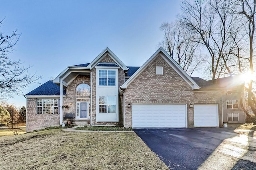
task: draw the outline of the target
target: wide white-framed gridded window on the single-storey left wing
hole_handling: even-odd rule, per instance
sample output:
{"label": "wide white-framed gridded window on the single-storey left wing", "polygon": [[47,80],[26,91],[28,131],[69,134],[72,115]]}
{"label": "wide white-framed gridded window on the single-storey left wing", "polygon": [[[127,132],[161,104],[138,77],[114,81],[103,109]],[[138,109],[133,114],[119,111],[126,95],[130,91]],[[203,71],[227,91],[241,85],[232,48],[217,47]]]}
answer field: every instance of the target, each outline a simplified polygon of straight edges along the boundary
{"label": "wide white-framed gridded window on the single-storey left wing", "polygon": [[58,114],[58,99],[37,99],[36,106],[37,114]]}

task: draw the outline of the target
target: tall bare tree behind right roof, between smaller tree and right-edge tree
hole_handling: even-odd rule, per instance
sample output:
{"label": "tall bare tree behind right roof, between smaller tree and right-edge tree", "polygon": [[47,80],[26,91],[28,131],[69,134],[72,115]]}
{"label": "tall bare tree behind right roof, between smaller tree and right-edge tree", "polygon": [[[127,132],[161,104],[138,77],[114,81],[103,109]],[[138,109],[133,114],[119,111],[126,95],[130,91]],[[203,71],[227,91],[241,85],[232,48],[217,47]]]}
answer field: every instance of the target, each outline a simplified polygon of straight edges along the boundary
{"label": "tall bare tree behind right roof, between smaller tree and right-edge tree", "polygon": [[[229,74],[238,67],[232,51],[233,38],[239,32],[231,1],[226,0],[184,0],[180,22],[196,34],[195,41],[207,51],[212,80]],[[235,34],[235,35],[233,35]],[[232,69],[230,69],[232,68]],[[208,69],[209,70],[209,69]]]}

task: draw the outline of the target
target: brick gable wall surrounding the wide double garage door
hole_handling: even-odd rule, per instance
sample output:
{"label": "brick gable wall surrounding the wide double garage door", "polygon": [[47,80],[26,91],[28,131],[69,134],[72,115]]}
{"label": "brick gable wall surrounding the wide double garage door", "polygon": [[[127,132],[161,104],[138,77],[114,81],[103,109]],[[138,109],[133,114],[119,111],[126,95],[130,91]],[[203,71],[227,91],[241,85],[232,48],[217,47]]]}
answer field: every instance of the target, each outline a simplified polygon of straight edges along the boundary
{"label": "brick gable wall surrounding the wide double garage door", "polygon": [[[156,66],[163,66],[163,75],[156,75]],[[194,127],[192,88],[158,55],[125,90],[125,127],[132,127],[132,107],[128,103],[187,104],[188,127]]]}

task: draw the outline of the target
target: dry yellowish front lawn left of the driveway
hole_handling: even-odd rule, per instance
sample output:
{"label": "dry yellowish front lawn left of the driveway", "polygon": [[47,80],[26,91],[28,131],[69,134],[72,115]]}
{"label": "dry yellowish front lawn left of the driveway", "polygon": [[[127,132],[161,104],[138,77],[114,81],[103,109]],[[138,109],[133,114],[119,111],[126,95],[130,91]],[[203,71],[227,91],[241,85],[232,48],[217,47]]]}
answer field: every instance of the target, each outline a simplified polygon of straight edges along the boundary
{"label": "dry yellowish front lawn left of the driveway", "polygon": [[1,169],[168,170],[136,133],[52,129],[0,137]]}

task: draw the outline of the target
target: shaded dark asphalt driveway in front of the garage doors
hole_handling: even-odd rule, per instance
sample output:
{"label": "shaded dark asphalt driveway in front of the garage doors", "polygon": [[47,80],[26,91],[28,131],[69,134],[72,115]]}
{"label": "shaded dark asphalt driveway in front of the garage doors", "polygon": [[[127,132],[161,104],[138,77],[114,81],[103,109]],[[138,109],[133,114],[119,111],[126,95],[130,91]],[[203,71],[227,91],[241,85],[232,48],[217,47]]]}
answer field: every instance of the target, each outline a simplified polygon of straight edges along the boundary
{"label": "shaded dark asphalt driveway in front of the garage doors", "polygon": [[[201,169],[232,169],[232,167],[236,169],[234,162],[237,160],[226,154],[226,150],[220,145],[225,139],[239,136],[234,132],[235,129],[236,126],[228,128],[134,129],[134,131],[170,169],[196,170],[204,162],[207,164],[204,164]],[[224,151],[215,152],[219,145]],[[215,156],[210,156],[212,154]],[[221,162],[221,164],[217,165],[217,162]],[[255,168],[255,164],[252,164],[252,167]],[[249,167],[247,166],[247,168]]]}

